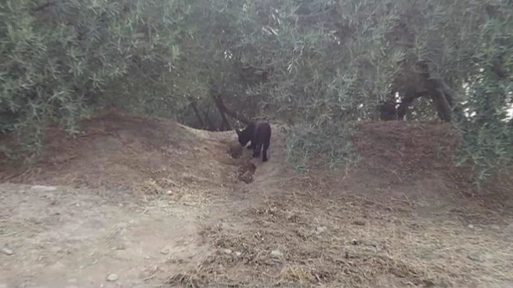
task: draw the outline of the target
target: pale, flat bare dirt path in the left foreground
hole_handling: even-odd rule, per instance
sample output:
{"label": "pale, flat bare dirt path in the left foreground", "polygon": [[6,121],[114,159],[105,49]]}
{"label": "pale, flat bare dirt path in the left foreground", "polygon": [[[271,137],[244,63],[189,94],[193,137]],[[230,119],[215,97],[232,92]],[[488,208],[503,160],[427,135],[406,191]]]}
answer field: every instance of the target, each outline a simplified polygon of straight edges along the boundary
{"label": "pale, flat bare dirt path in the left foreground", "polygon": [[[0,185],[0,283],[160,284],[208,255],[198,234],[200,209],[164,200],[141,205],[127,196],[96,193]],[[106,281],[111,273],[119,277],[115,283]]]}

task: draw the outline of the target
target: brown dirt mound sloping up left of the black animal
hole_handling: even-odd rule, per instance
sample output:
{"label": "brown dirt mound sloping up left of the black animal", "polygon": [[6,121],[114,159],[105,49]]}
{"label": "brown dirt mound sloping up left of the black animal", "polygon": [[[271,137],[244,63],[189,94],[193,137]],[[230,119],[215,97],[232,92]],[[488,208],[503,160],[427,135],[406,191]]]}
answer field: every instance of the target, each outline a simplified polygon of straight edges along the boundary
{"label": "brown dirt mound sloping up left of the black animal", "polygon": [[0,179],[107,189],[221,181],[216,156],[225,145],[203,131],[115,112],[85,121],[83,130],[72,139],[49,129],[42,159],[29,169],[4,165]]}

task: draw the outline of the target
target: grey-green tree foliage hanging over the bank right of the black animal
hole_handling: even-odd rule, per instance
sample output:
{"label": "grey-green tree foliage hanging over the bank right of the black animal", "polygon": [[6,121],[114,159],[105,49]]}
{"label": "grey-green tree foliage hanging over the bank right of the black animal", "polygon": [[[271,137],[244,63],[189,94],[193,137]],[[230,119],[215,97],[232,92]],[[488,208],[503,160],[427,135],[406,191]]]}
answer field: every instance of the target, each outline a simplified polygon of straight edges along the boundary
{"label": "grey-green tree foliage hanging over the bank right of the black animal", "polygon": [[[455,92],[455,118],[465,122],[461,155],[478,178],[512,163],[503,112],[513,105],[510,3],[319,0],[255,6],[271,12],[254,20],[260,25],[253,25],[244,58],[273,70],[272,79],[253,91],[268,95],[264,101],[274,113],[307,127],[289,135],[295,166],[303,166],[312,151],[333,151],[336,146],[320,137],[330,135],[329,126],[377,119],[376,106],[393,92],[391,86],[406,94],[423,89],[416,78],[421,61]],[[437,118],[429,98],[414,105],[407,119]]]}

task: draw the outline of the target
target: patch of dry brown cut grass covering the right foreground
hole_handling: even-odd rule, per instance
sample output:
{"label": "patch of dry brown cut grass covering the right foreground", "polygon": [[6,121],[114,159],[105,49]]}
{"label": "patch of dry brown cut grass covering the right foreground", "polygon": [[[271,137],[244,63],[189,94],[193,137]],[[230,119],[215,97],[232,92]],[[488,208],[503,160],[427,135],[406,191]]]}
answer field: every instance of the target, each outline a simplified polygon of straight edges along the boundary
{"label": "patch of dry brown cut grass covering the right foreground", "polygon": [[[240,256],[221,253],[196,273],[216,267],[244,286],[255,285],[254,278],[273,286],[427,287],[513,279],[507,233],[469,228],[450,214],[424,218],[406,202],[299,190],[245,216],[253,222],[242,232],[207,229],[221,251]],[[272,250],[283,258],[270,257]]]}

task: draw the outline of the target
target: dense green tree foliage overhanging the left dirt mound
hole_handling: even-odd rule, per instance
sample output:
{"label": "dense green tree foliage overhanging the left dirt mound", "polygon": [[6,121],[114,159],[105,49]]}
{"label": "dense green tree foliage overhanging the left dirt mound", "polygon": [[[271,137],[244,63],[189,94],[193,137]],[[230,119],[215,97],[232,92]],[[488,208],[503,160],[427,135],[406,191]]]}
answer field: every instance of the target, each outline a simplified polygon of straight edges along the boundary
{"label": "dense green tree foliage overhanging the left dirt mound", "polygon": [[[23,145],[38,151],[50,122],[76,133],[78,121],[106,102],[130,106],[133,92],[148,96],[144,104],[162,98],[176,71],[148,73],[179,60],[175,38],[183,31],[169,27],[180,21],[183,4],[45,3],[0,4],[0,130],[19,132]],[[109,89],[113,99],[105,99]]]}

